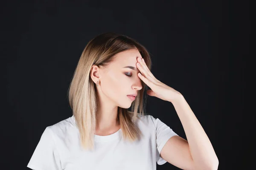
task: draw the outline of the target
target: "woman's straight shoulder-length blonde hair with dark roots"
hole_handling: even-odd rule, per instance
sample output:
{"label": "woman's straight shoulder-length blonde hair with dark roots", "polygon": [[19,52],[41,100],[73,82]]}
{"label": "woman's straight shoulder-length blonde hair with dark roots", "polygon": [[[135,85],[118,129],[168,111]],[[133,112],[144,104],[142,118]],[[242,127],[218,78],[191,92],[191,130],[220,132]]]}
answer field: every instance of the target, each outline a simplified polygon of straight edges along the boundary
{"label": "woman's straight shoulder-length blonde hair with dark roots", "polygon": [[[79,129],[81,146],[84,149],[93,149],[94,130],[96,127],[97,96],[96,86],[90,77],[92,65],[106,66],[113,60],[113,56],[128,49],[137,49],[151,70],[151,58],[147,49],[136,40],[122,34],[103,33],[90,40],[84,48],[73,79],[68,89],[68,99],[76,125]],[[141,131],[135,120],[145,115],[146,96],[143,92],[147,86],[143,81],[142,89],[131,105],[131,111],[118,107],[117,120],[120,122],[123,139],[133,142],[139,139]],[[146,89],[147,90],[147,89]],[[139,113],[138,113],[139,110]]]}

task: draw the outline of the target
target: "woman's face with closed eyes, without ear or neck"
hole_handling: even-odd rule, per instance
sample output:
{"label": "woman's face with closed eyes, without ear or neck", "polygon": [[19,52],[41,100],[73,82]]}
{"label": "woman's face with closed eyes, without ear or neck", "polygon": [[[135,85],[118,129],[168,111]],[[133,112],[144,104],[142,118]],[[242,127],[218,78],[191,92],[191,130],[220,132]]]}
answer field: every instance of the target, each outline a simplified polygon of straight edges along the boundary
{"label": "woman's face with closed eyes, without ear or neck", "polygon": [[133,100],[127,95],[138,94],[142,89],[142,80],[138,77],[140,71],[136,67],[137,57],[141,57],[137,49],[122,51],[106,68],[100,67],[99,93],[103,101],[121,108],[131,107]]}

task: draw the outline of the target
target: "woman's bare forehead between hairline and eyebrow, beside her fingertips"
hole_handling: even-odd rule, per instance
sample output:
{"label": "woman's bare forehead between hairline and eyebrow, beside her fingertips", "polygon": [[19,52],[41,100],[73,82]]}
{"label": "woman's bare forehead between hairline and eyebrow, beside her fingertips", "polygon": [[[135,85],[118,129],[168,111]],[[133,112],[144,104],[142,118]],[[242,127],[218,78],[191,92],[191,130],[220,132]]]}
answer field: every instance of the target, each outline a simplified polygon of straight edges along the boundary
{"label": "woman's bare forehead between hairline and eyebrow, beside her fingertips", "polygon": [[136,66],[137,57],[141,57],[140,52],[137,49],[129,49],[122,51],[115,55],[113,64],[118,64],[120,66]]}

